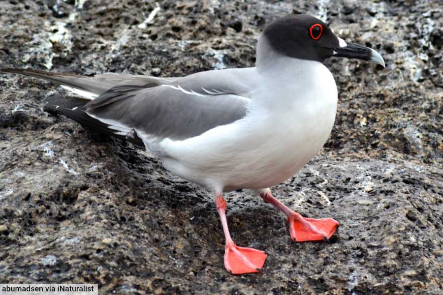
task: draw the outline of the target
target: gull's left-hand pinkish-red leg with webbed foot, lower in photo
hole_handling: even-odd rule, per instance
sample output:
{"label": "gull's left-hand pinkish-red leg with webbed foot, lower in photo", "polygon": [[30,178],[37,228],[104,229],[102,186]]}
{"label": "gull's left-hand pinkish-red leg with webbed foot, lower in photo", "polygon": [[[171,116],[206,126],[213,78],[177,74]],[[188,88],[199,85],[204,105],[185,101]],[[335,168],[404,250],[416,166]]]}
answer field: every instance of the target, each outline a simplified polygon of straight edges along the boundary
{"label": "gull's left-hand pinkish-red leg with webbed foot, lower in photo", "polygon": [[264,251],[238,247],[234,244],[231,235],[229,235],[226,221],[226,201],[221,194],[217,195],[217,211],[226,240],[224,247],[224,267],[226,270],[234,274],[259,272],[268,255]]}

